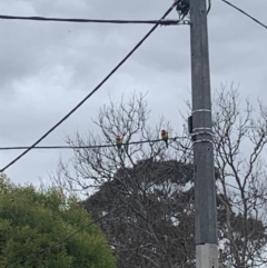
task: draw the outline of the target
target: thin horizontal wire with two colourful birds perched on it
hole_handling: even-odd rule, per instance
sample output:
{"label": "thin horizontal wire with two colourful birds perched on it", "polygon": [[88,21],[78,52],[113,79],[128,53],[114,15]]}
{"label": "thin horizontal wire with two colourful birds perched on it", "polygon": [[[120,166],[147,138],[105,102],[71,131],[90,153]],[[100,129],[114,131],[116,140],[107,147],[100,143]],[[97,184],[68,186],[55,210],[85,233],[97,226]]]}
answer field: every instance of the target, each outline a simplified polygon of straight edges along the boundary
{"label": "thin horizontal wire with two colourful birds perched on it", "polygon": [[[187,137],[175,137],[169,138],[169,140],[176,141],[177,139],[186,139]],[[122,143],[122,146],[129,146],[129,145],[141,145],[141,143],[155,143],[160,142],[162,139],[156,139],[156,140],[140,140],[140,141],[131,141]],[[32,149],[97,149],[97,148],[111,148],[116,147],[116,145],[96,145],[96,146],[36,146]],[[28,146],[17,146],[17,147],[0,147],[0,150],[26,150],[31,147]]]}

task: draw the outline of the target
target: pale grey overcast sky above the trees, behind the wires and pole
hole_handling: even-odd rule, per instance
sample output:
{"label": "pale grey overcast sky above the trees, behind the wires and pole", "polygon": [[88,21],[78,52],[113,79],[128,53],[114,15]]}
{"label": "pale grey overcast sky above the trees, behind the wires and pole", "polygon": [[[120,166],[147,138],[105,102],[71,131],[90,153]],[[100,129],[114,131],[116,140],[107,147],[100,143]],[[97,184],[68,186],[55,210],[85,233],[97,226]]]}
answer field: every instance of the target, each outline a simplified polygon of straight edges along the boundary
{"label": "pale grey overcast sky above the trees, behind the wires and pole", "polygon": [[[211,88],[235,81],[255,100],[267,98],[267,31],[220,0],[208,17]],[[267,23],[266,0],[231,1]],[[0,0],[1,14],[88,19],[159,19],[172,0]],[[177,13],[168,17],[176,19]],[[72,109],[151,26],[0,20],[0,147],[29,146]],[[159,27],[118,72],[41,145],[92,127],[108,102],[148,91],[152,119],[174,120],[190,100],[189,27]],[[0,151],[6,166],[20,151]],[[70,151],[32,150],[6,172],[16,182],[38,183]]]}

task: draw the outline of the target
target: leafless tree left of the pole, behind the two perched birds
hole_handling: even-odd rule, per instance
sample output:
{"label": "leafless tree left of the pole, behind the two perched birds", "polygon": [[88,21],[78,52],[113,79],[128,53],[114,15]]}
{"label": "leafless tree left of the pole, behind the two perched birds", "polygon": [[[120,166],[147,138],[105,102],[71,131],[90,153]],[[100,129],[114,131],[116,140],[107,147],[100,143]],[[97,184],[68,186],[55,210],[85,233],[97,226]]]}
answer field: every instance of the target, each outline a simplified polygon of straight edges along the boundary
{"label": "leafless tree left of the pole, behind the two perched birds", "polygon": [[[177,135],[168,122],[160,119],[151,128],[148,119],[142,95],[103,106],[93,120],[99,131],[68,138],[71,146],[96,147],[75,150],[73,173],[61,162],[57,183],[65,190],[88,195],[85,205],[95,218],[108,214],[100,225],[119,267],[191,267],[190,140],[186,133],[186,139],[171,139]],[[155,141],[161,129],[169,132],[168,149],[164,141]],[[118,135],[125,143],[121,155],[115,145]],[[149,142],[127,146],[132,141]]]}

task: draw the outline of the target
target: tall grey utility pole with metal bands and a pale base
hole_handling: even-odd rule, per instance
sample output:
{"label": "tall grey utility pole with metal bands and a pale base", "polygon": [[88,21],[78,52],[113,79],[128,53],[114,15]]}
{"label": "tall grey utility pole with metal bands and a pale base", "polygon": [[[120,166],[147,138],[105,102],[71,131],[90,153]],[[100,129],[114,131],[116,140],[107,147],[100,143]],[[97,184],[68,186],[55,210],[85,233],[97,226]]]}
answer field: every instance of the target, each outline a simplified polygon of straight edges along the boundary
{"label": "tall grey utility pole with metal bands and a pale base", "polygon": [[206,0],[190,0],[197,268],[218,268],[217,207]]}

